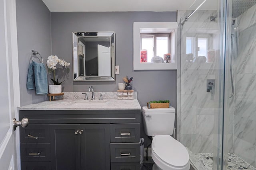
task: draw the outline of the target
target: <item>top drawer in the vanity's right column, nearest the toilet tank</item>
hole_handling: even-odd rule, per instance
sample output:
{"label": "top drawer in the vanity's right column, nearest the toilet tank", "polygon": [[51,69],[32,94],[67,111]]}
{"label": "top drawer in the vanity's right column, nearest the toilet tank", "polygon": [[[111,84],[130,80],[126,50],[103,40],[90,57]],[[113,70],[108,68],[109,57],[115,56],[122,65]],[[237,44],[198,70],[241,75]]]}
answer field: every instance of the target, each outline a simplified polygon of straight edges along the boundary
{"label": "top drawer in the vanity's right column, nearest the toilet tank", "polygon": [[110,124],[110,142],[140,142],[140,123]]}

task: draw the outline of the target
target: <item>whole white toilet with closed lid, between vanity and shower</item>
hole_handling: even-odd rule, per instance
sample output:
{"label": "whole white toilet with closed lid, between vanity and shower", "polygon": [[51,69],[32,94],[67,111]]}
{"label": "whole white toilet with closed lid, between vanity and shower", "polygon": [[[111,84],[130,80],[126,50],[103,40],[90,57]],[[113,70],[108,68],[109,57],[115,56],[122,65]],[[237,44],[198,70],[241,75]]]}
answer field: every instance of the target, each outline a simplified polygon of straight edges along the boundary
{"label": "whole white toilet with closed lid, between vanity and shower", "polygon": [[146,135],[152,136],[151,156],[155,164],[153,170],[189,170],[189,155],[186,148],[172,135],[175,109],[148,109],[142,107]]}

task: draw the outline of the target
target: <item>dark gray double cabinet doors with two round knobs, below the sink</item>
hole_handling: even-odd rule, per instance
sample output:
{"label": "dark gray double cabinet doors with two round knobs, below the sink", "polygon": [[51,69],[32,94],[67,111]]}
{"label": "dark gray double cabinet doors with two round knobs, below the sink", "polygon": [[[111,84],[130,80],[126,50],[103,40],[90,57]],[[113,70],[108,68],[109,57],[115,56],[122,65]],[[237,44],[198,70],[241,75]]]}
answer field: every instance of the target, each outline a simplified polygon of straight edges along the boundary
{"label": "dark gray double cabinet doors with two round knobs, below the sink", "polygon": [[52,170],[110,170],[109,124],[50,125]]}

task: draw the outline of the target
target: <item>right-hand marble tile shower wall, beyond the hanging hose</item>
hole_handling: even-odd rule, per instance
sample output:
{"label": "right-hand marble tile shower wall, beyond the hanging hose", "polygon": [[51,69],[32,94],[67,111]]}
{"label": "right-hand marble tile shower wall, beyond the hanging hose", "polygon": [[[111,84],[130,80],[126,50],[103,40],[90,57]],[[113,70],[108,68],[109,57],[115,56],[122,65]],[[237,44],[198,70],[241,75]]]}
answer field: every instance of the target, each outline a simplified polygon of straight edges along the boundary
{"label": "right-hand marble tile shower wall, beyond the hanging hose", "polygon": [[234,153],[256,166],[256,5],[238,17]]}

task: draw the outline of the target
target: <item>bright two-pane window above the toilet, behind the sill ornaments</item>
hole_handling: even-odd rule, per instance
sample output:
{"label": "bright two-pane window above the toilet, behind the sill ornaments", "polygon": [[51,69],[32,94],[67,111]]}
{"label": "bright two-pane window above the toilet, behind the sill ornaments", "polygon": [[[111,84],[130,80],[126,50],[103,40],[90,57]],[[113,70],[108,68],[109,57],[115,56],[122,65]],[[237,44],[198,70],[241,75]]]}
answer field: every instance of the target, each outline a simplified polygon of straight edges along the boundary
{"label": "bright two-pane window above the toilet, behind the sill ornaments", "polygon": [[140,34],[141,50],[147,50],[147,62],[151,63],[152,57],[170,53],[170,34]]}

